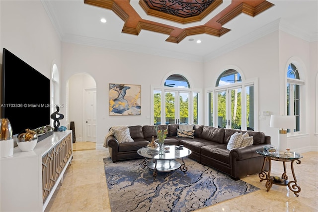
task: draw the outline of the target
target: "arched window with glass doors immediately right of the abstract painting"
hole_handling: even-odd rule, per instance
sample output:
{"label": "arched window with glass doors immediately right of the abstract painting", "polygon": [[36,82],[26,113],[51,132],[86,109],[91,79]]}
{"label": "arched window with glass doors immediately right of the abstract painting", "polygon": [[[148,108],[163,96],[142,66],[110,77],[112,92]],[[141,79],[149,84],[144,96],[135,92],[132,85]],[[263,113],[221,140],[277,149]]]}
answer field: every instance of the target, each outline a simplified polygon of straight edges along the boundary
{"label": "arched window with glass doors immediately right of the abstract painting", "polygon": [[200,91],[190,89],[184,76],[169,75],[153,92],[154,124],[198,123]]}

